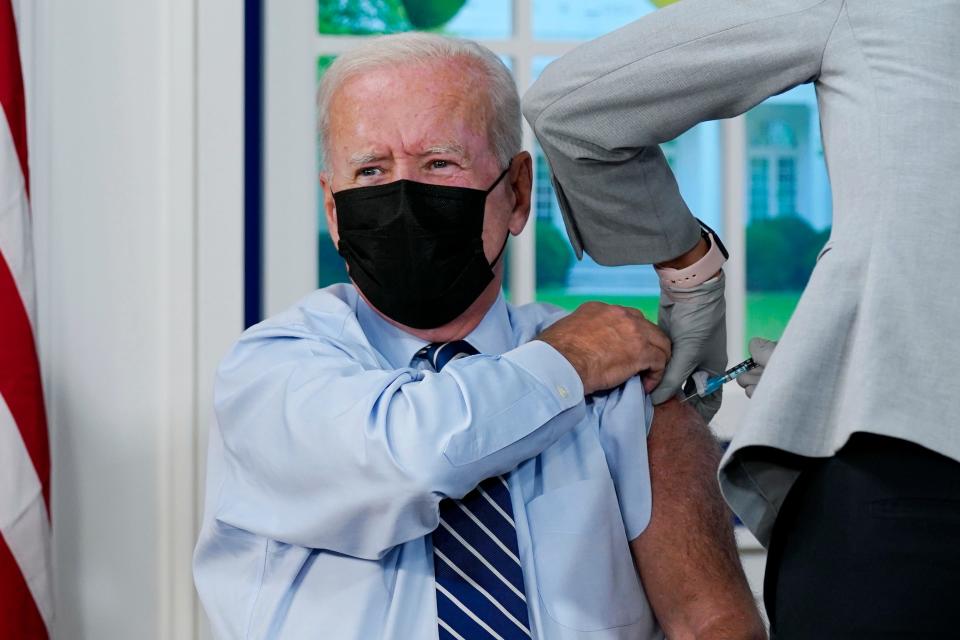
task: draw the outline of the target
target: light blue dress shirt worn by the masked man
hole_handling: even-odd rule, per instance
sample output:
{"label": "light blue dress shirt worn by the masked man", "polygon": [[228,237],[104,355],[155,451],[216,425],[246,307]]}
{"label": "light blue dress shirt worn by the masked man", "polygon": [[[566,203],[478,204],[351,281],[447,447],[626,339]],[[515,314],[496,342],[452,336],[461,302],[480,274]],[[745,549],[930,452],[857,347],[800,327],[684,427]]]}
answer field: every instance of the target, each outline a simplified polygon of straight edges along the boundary
{"label": "light blue dress shirt worn by the masked man", "polygon": [[[584,398],[503,297],[442,373],[350,285],[249,329],[218,371],[194,578],[218,638],[433,640],[438,505],[508,474],[534,638],[660,638],[638,379]],[[426,367],[426,368],[425,368]],[[471,640],[471,639],[467,639]]]}

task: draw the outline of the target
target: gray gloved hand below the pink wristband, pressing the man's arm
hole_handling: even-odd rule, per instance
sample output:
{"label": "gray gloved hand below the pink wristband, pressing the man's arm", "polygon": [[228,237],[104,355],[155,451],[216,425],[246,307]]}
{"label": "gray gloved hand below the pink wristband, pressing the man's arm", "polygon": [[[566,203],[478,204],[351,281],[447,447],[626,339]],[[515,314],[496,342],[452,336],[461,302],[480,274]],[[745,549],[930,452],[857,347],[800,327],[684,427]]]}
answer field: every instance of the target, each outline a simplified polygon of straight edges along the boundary
{"label": "gray gloved hand below the pink wristband, pressing the man's arm", "polygon": [[[727,367],[727,303],[723,295],[723,272],[690,289],[664,288],[660,292],[657,324],[670,336],[673,354],[660,386],[650,394],[654,404],[677,395],[694,371],[711,376]],[[723,391],[689,401],[707,422],[720,409]]]}

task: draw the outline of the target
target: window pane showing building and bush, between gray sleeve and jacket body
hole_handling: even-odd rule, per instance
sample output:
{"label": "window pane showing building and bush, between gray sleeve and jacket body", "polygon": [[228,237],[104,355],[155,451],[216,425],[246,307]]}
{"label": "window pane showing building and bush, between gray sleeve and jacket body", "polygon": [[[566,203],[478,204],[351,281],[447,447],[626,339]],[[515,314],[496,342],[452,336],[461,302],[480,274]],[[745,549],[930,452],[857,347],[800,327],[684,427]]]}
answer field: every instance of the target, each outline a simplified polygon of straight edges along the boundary
{"label": "window pane showing building and bush, between gray sleeve and jacket body", "polygon": [[746,118],[746,338],[776,340],[830,235],[830,186],[811,85],[768,99]]}

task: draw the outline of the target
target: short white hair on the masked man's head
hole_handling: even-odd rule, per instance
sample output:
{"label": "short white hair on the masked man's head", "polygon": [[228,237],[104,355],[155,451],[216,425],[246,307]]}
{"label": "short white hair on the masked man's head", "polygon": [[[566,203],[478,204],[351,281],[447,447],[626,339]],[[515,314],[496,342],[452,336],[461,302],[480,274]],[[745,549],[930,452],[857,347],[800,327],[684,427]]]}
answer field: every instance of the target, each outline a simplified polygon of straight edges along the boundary
{"label": "short white hair on the masked man's head", "polygon": [[345,82],[384,67],[458,59],[472,64],[486,77],[492,112],[487,137],[498,162],[506,166],[523,144],[520,96],[510,71],[495,53],[472,40],[419,32],[371,38],[337,56],[326,70],[317,92],[317,124],[324,155],[329,156],[330,105]]}

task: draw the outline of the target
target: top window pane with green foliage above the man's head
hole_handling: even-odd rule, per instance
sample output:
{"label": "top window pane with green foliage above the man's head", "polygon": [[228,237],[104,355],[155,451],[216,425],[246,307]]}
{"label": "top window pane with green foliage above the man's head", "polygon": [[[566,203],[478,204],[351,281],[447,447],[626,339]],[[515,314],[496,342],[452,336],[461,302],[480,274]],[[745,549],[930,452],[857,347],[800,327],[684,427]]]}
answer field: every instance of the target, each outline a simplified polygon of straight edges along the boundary
{"label": "top window pane with green foliage above the man's head", "polygon": [[323,34],[375,35],[439,31],[470,38],[507,38],[510,0],[317,0]]}

